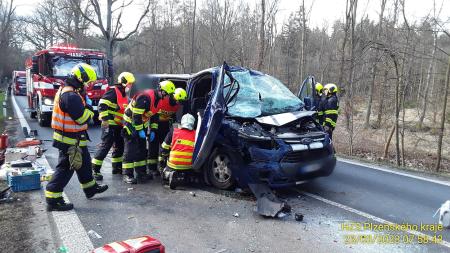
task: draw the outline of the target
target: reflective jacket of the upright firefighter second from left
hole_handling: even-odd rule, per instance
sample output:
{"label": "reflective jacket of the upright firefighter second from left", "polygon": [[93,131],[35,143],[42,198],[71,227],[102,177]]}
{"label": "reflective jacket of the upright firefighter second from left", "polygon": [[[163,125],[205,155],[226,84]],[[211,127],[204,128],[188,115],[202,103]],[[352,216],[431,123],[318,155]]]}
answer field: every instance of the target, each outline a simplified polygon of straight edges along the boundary
{"label": "reflective jacket of the upright firefighter second from left", "polygon": [[123,114],[128,105],[125,89],[116,85],[108,89],[98,103],[99,117],[110,126],[123,126]]}

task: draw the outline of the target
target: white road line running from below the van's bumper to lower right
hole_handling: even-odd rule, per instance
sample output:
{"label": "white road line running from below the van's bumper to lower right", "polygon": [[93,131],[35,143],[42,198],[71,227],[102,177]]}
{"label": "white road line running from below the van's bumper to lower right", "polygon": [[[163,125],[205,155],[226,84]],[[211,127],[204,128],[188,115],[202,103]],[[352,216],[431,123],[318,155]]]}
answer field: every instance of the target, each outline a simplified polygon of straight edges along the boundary
{"label": "white road line running from below the van's bumper to lower right", "polygon": [[[346,205],[343,205],[343,204],[334,202],[334,201],[332,201],[332,200],[322,198],[322,197],[320,197],[320,196],[318,196],[318,195],[316,195],[316,194],[309,193],[309,192],[304,192],[304,191],[298,191],[298,192],[299,192],[300,194],[303,194],[303,195],[306,195],[306,196],[311,197],[311,198],[313,198],[313,199],[322,201],[322,202],[327,203],[327,204],[329,204],[329,205],[332,205],[332,206],[335,206],[335,207],[344,209],[345,211],[348,211],[348,212],[357,214],[357,215],[362,216],[362,217],[364,217],[364,218],[366,218],[366,219],[370,219],[370,220],[373,220],[373,221],[378,222],[378,223],[381,223],[381,224],[388,224],[388,225],[393,225],[393,226],[397,225],[397,224],[394,223],[394,222],[391,222],[391,221],[388,221],[388,220],[385,220],[385,219],[382,219],[382,218],[373,216],[373,215],[368,214],[368,213],[363,212],[363,211],[356,210],[356,209],[354,209],[354,208],[351,208],[351,207],[349,207],[349,206],[346,206]],[[422,232],[419,232],[419,231],[416,231],[416,230],[404,230],[404,231],[407,232],[407,233],[409,233],[409,234],[415,235],[415,236],[417,236],[417,237],[420,236],[420,237],[422,237],[422,238],[427,238],[428,240],[432,241],[432,237],[431,237],[431,236],[429,236],[429,235],[427,235],[427,234],[424,234],[424,233],[422,233]],[[442,246],[445,246],[445,247],[447,247],[447,248],[450,248],[450,242],[447,242],[447,241],[442,240],[441,242],[437,242],[437,243],[438,243],[438,244],[441,244]]]}

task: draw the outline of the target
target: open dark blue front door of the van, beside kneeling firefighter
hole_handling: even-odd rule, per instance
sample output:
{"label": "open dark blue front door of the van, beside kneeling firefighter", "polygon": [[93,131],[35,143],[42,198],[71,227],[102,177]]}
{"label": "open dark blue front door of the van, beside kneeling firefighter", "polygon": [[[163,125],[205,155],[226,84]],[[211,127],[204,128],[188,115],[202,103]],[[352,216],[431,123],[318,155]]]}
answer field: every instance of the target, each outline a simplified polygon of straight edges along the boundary
{"label": "open dark blue front door of the van, beside kneeling firefighter", "polygon": [[228,71],[228,65],[224,63],[215,78],[216,85],[211,91],[211,97],[206,105],[205,112],[197,128],[197,139],[193,154],[193,169],[200,170],[207,160],[214,140],[222,125],[222,120],[226,112],[225,99],[223,96],[225,71]]}

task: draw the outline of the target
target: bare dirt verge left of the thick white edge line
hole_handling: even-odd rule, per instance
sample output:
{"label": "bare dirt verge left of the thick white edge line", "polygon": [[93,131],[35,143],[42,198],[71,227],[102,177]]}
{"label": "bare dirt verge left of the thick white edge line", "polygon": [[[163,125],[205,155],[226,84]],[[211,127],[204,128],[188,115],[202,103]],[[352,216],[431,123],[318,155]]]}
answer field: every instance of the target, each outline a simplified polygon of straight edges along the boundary
{"label": "bare dirt verge left of the thick white edge line", "polygon": [[[0,122],[8,134],[9,147],[22,139],[22,128],[8,101],[7,117]],[[12,117],[9,119],[9,117]],[[2,130],[3,130],[2,129]],[[23,154],[6,155],[6,162],[20,159]],[[0,190],[8,187],[0,180]],[[0,252],[54,252],[48,215],[39,191],[13,192],[11,201],[0,203]]]}

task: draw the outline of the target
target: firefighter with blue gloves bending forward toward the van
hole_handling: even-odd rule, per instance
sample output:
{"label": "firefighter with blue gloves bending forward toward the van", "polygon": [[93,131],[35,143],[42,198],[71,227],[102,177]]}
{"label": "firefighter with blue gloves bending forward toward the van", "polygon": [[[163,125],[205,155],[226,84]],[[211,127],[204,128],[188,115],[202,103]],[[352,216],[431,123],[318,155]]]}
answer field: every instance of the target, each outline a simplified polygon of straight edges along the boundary
{"label": "firefighter with blue gloves bending forward toward the van", "polygon": [[[125,142],[122,173],[123,181],[128,184],[144,183],[153,178],[147,174],[147,129],[150,119],[157,112],[161,99],[174,93],[175,85],[171,81],[162,81],[157,90],[144,90],[136,94],[128,104],[124,113],[124,128],[122,135]],[[150,141],[155,139],[155,133],[150,132]],[[134,177],[136,172],[136,178]]]}

